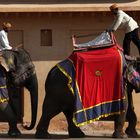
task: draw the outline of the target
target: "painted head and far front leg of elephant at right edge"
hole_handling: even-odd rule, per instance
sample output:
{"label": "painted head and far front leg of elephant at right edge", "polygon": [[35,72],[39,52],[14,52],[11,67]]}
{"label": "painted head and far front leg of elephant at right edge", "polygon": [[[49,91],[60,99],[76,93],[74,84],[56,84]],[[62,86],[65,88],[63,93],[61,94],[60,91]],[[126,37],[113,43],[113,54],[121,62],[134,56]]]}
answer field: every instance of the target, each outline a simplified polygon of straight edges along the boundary
{"label": "painted head and far front leg of elephant at right edge", "polygon": [[134,110],[132,93],[140,92],[140,57],[125,55],[127,60],[126,69],[126,79],[127,79],[127,97],[128,97],[128,110],[126,114],[126,120],[128,121],[128,126],[125,130],[128,137],[136,138],[138,137],[138,132],[136,130],[137,125],[137,115]]}

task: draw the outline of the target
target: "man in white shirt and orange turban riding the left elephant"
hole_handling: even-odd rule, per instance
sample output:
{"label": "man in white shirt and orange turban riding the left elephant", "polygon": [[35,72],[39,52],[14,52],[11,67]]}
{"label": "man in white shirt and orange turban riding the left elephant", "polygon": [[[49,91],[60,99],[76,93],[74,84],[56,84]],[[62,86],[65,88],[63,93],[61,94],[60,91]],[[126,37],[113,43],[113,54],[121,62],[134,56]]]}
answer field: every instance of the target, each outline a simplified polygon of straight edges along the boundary
{"label": "man in white shirt and orange turban riding the left elephant", "polygon": [[4,22],[2,24],[2,30],[0,31],[0,51],[5,49],[12,49],[12,47],[9,45],[8,40],[8,30],[12,27],[11,23]]}

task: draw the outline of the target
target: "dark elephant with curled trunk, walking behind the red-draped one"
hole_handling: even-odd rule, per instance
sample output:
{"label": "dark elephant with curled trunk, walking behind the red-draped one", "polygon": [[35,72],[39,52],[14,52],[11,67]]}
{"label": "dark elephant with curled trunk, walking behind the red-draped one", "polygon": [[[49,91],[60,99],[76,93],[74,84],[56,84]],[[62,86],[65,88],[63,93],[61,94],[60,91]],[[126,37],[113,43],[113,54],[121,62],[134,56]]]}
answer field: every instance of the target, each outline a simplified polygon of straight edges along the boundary
{"label": "dark elephant with curled trunk, walking behind the red-draped one", "polygon": [[[1,86],[5,85],[5,88],[0,89],[1,99],[3,99],[3,102],[0,102],[0,110],[5,114],[6,120],[9,123],[8,135],[16,137],[20,136],[21,132],[17,127],[17,116],[10,101],[10,93],[18,87],[25,87],[29,91],[32,118],[30,125],[24,125],[24,128],[31,130],[34,128],[37,118],[38,80],[35,66],[32,63],[29,53],[24,48],[3,50],[1,53],[1,62],[0,84]],[[8,71],[6,71],[7,68]]]}

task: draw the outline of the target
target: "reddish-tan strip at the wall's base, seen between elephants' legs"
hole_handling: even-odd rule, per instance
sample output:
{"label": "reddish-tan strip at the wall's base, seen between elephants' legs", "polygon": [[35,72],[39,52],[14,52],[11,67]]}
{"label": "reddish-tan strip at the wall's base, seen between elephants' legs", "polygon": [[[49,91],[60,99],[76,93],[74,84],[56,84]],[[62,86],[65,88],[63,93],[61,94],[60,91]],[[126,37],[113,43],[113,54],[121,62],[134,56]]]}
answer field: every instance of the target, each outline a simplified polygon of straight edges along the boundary
{"label": "reddish-tan strip at the wall's base, seen between elephants' legs", "polygon": [[[112,133],[113,132],[113,121],[96,121],[92,124],[82,126],[81,129],[87,134],[94,134],[96,132],[104,132],[104,133]],[[125,123],[124,129],[127,127],[127,122]],[[35,129],[32,131],[27,131],[23,129],[21,124],[18,124],[18,128],[21,130],[22,133],[35,133]],[[7,123],[0,123],[0,133],[6,133],[8,130]],[[140,122],[137,123],[137,130],[140,132]],[[67,133],[67,123],[66,120],[63,118],[53,119],[49,126],[50,133]]]}

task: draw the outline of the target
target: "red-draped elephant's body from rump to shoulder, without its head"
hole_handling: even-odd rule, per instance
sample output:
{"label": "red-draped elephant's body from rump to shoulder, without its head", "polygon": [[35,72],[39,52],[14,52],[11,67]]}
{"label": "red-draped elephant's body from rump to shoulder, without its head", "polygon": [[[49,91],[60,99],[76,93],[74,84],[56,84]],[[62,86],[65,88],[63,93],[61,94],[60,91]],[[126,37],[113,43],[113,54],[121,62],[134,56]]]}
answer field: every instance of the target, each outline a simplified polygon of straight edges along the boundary
{"label": "red-draped elephant's body from rump to shoulder, without its head", "polygon": [[115,122],[113,137],[127,137],[123,132],[127,111],[123,77],[126,61],[116,42],[108,44],[103,48],[75,49],[51,69],[45,82],[36,138],[51,137],[50,120],[60,112],[66,116],[69,137],[84,137],[80,126],[110,115],[114,115]]}

